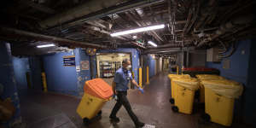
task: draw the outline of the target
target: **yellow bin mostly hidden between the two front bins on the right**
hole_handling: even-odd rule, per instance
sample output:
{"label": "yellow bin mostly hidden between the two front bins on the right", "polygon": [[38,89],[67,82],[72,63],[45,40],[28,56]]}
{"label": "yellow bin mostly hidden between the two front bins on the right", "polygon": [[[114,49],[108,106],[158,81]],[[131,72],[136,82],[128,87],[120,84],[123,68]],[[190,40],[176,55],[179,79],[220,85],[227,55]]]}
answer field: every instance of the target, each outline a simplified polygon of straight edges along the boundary
{"label": "yellow bin mostly hidden between the two front bins on the right", "polygon": [[205,88],[201,84],[202,80],[218,80],[218,79],[224,79],[224,77],[218,76],[218,75],[212,75],[212,74],[198,74],[196,75],[196,78],[200,80],[199,83],[199,94],[200,94],[200,102],[205,102]]}

